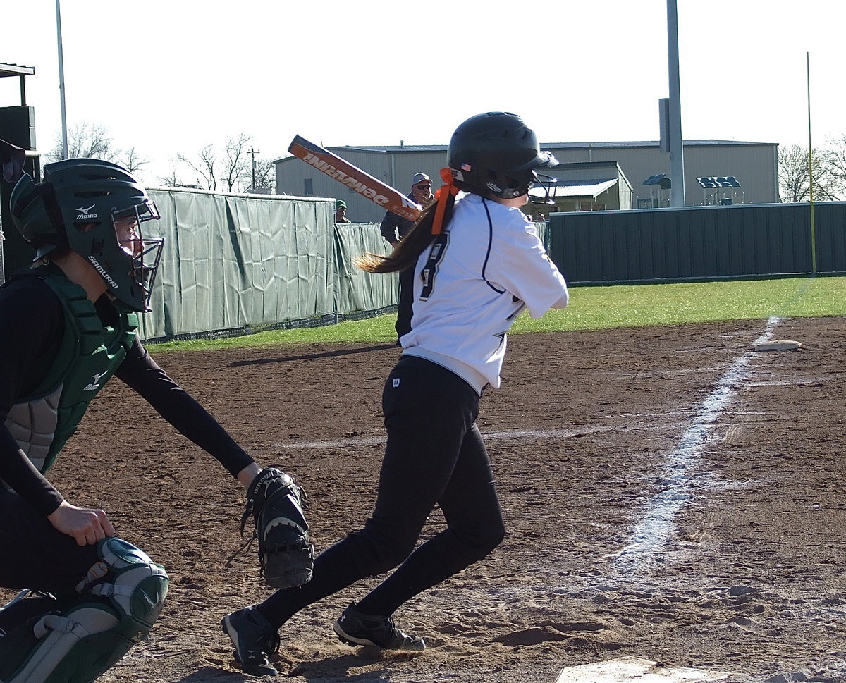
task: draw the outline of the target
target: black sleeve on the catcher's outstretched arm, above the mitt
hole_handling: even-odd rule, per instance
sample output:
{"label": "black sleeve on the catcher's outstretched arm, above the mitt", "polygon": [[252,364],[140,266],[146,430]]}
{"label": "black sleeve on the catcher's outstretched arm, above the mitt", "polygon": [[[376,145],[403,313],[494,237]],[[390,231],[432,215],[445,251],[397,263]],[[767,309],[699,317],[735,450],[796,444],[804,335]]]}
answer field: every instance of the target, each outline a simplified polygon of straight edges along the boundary
{"label": "black sleeve on the catcher's outstretched arm, above the mitt", "polygon": [[233,477],[255,462],[206,408],[168,377],[138,339],[115,376],[142,396],[180,434],[214,456]]}

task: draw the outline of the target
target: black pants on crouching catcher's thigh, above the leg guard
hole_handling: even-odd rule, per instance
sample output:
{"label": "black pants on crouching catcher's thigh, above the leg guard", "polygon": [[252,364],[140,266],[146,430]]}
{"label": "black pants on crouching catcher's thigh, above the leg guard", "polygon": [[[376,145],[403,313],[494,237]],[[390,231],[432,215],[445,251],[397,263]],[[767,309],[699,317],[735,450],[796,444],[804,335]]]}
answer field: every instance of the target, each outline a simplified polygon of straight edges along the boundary
{"label": "black pants on crouching catcher's thigh, above the leg guard", "polygon": [[74,593],[97,560],[96,544],[77,545],[18,494],[0,487],[0,586]]}

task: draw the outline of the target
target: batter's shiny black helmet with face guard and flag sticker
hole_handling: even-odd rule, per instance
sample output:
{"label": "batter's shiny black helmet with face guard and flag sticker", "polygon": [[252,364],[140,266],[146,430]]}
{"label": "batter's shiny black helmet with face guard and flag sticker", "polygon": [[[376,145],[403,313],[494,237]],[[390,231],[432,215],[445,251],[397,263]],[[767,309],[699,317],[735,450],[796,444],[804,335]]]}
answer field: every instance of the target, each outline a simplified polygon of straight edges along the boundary
{"label": "batter's shiny black helmet with face guard and flag sticker", "polygon": [[[453,133],[447,152],[448,167],[459,189],[514,199],[541,184],[542,204],[549,201],[549,188],[557,182],[536,169],[558,166],[549,152],[542,152],[537,137],[523,119],[509,112],[486,112],[470,117]],[[536,197],[530,199],[537,203]]]}

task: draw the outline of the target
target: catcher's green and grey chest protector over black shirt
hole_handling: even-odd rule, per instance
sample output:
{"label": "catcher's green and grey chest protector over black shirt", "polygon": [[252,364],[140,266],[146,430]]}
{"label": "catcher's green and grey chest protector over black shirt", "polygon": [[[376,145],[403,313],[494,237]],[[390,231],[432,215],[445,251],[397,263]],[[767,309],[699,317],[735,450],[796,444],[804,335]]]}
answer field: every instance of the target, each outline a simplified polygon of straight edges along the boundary
{"label": "catcher's green and grey chest protector over black shirt", "polygon": [[64,310],[64,336],[44,380],[8,412],[6,427],[41,473],[56,462],[74,434],[91,399],[118,369],[135,342],[138,316],[118,312],[114,325],[103,325],[85,290],[49,269],[41,277]]}

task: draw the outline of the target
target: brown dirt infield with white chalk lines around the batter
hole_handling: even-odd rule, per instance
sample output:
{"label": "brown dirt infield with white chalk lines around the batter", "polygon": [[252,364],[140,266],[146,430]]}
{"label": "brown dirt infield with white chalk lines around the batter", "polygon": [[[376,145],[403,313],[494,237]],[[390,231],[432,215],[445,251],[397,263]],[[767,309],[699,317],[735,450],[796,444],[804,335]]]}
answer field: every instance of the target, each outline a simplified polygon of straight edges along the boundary
{"label": "brown dirt infield with white chalk lines around the batter", "polygon": [[[846,319],[828,318],[511,337],[480,419],[508,536],[398,612],[429,649],[378,657],[333,637],[373,580],[290,620],[277,669],[308,683],[552,683],[565,666],[633,655],[730,681],[846,680],[844,333]],[[754,352],[761,336],[803,346]],[[299,478],[323,549],[371,509],[397,355],[159,361],[261,462]],[[268,594],[254,552],[227,566],[236,482],[118,381],[52,479],[107,510],[172,579],[150,639],[101,680],[248,678],[218,626]],[[426,534],[441,526],[433,514]]]}

